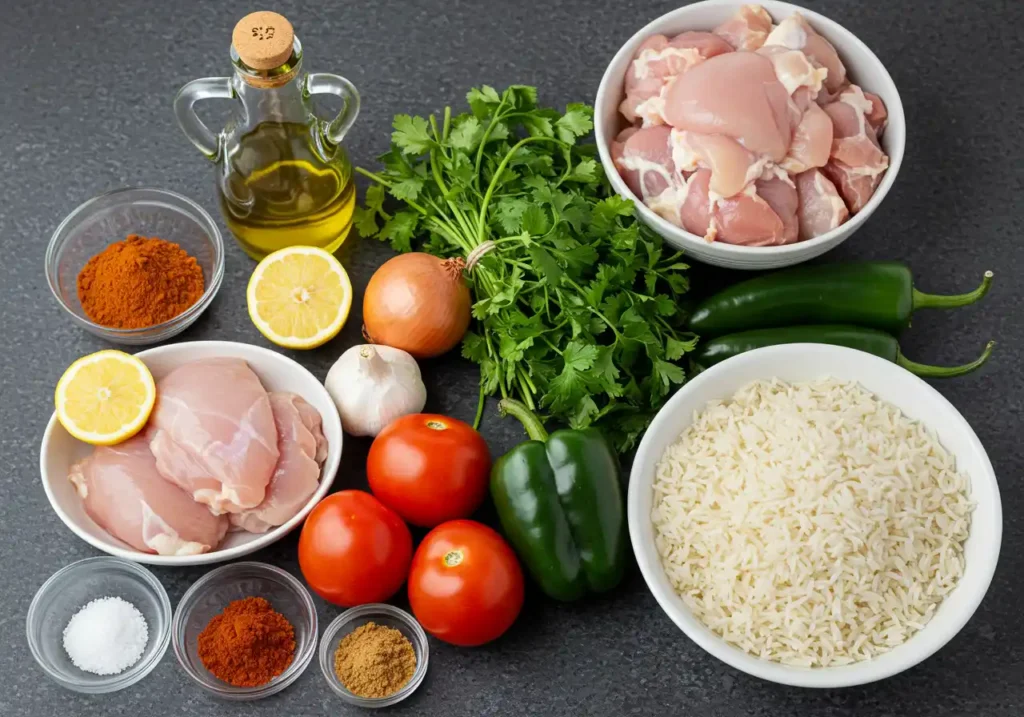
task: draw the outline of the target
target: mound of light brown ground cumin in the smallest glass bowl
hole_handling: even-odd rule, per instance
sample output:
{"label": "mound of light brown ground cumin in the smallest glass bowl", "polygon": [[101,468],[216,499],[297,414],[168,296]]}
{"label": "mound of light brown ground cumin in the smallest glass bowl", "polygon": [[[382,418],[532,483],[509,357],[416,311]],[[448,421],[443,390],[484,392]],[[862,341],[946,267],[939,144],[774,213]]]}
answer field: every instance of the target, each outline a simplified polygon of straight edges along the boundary
{"label": "mound of light brown ground cumin in the smallest glass bowl", "polygon": [[360,698],[387,698],[413,678],[416,650],[400,631],[367,623],[345,635],[334,653],[334,672]]}

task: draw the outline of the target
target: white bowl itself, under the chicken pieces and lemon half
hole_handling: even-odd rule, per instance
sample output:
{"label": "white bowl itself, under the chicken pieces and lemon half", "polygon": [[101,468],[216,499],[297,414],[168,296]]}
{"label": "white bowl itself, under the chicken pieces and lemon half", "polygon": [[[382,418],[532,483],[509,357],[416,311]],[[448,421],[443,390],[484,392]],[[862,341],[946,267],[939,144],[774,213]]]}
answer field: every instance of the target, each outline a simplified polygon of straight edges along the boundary
{"label": "white bowl itself, under the chicken pieces and lemon half", "polygon": [[136,355],[145,362],[158,381],[173,369],[197,358],[243,358],[259,376],[267,390],[291,391],[305,398],[319,411],[324,420],[324,435],[328,440],[328,455],[321,471],[319,488],[291,520],[266,533],[228,533],[217,550],[202,555],[143,553],[110,535],[86,514],[82,500],[68,480],[68,469],[72,463],[87,456],[92,447],[73,438],[54,414],[46,425],[39,455],[43,490],[65,524],[86,543],[111,555],[151,565],[203,565],[221,562],[248,555],[281,540],[301,523],[312,507],[331,490],[341,461],[341,419],[327,389],[306,369],[269,349],[233,341],[175,343],[139,351]]}

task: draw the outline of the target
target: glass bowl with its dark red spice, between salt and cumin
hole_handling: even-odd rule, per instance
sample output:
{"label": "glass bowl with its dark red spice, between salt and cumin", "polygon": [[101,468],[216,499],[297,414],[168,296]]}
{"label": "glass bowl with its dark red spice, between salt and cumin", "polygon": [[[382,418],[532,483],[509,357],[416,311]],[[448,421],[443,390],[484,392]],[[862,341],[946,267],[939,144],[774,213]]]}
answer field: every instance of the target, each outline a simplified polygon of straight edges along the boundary
{"label": "glass bowl with its dark red spice, between salt and cumin", "polygon": [[285,689],[316,652],[316,608],[289,573],[234,562],[200,578],[174,611],[171,642],[185,673],[224,700]]}

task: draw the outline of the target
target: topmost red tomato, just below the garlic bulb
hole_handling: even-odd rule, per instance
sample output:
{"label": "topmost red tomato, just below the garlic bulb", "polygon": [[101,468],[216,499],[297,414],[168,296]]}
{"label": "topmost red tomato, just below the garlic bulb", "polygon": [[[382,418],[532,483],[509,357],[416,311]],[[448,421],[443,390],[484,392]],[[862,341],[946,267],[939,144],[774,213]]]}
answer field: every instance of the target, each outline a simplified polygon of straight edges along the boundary
{"label": "topmost red tomato, just below the garlic bulb", "polygon": [[487,495],[490,453],[462,421],[434,414],[403,416],[374,439],[367,458],[370,490],[414,525],[469,517]]}

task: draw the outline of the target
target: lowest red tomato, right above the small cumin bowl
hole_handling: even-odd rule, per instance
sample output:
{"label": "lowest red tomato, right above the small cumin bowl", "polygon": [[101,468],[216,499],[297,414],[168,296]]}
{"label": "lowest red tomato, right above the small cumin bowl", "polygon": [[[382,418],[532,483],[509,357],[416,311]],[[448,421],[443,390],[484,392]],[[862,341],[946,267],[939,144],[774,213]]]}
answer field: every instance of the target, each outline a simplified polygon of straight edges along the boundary
{"label": "lowest red tomato, right above the small cumin bowl", "polygon": [[427,534],[413,556],[409,603],[439,640],[473,647],[502,635],[522,607],[522,568],[500,535],[475,520]]}

